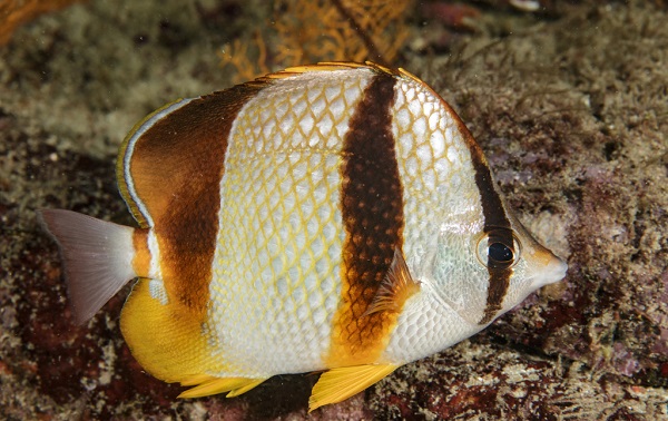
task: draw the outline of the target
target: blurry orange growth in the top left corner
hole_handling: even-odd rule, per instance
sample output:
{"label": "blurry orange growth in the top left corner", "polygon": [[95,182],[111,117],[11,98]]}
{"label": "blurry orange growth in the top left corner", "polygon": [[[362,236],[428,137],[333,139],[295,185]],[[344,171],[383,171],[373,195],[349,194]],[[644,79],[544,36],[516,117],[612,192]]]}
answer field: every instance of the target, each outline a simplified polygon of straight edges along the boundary
{"label": "blurry orange growth in the top left corner", "polygon": [[78,1],[82,0],[0,0],[0,46],[9,41],[20,25]]}

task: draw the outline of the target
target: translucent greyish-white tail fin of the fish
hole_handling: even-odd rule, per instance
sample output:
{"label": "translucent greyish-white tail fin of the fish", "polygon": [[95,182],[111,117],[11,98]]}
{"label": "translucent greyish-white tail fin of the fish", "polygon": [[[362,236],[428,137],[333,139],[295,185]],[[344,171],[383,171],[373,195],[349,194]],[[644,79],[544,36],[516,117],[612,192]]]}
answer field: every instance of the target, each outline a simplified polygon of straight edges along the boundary
{"label": "translucent greyish-white tail fin of the fish", "polygon": [[41,209],[38,221],[60,246],[75,320],[91,319],[137,274],[134,229],[63,209]]}

